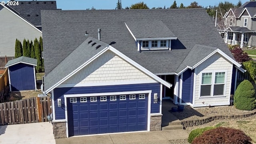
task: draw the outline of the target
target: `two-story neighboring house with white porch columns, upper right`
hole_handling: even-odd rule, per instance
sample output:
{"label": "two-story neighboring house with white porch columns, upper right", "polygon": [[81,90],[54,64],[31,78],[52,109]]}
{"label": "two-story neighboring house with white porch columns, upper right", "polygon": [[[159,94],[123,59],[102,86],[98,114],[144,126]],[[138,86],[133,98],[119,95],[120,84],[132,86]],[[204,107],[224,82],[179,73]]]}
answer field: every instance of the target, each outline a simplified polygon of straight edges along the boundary
{"label": "two-story neighboring house with white porch columns, upper right", "polygon": [[239,8],[231,8],[222,21],[218,31],[225,43],[240,47],[256,46],[256,2],[246,2]]}

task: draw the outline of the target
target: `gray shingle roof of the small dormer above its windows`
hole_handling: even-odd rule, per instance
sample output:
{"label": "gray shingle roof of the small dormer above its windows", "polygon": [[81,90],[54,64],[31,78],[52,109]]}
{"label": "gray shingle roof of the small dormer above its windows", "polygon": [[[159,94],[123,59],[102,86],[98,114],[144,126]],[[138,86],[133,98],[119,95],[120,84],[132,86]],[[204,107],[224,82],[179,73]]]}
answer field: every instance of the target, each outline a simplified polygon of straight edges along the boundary
{"label": "gray shingle roof of the small dormer above its windows", "polygon": [[161,20],[129,20],[125,23],[136,38],[175,37]]}

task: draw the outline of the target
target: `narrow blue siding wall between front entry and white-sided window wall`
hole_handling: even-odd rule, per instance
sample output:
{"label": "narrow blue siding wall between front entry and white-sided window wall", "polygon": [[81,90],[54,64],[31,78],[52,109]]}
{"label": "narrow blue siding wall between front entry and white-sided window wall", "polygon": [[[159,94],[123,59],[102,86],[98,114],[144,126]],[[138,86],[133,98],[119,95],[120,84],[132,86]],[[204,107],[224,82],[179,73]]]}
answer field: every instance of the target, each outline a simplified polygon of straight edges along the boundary
{"label": "narrow blue siding wall between front entry and white-sided window wall", "polygon": [[194,70],[186,70],[182,81],[182,103],[193,103]]}

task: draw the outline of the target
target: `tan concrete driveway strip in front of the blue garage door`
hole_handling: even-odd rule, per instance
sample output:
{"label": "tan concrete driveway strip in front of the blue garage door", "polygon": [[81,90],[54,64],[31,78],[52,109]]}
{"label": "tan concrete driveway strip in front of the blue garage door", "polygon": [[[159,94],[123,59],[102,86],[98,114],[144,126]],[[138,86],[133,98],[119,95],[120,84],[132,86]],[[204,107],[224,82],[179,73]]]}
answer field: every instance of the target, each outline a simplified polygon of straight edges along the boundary
{"label": "tan concrete driveway strip in front of the blue garage door", "polygon": [[75,136],[56,139],[56,144],[171,144],[169,140],[187,139],[185,130],[132,132],[99,136]]}

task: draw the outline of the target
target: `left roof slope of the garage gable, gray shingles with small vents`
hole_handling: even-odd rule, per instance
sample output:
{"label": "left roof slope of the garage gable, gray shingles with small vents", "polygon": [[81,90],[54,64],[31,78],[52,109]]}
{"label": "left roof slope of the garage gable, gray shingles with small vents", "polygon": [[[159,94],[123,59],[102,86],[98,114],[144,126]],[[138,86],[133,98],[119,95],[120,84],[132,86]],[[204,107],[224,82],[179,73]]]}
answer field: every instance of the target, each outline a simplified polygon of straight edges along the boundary
{"label": "left roof slope of the garage gable, gray shingles with small vents", "polygon": [[[88,43],[88,41],[91,42]],[[92,46],[92,43],[94,42],[96,42],[96,44]],[[101,46],[96,49],[98,45]],[[92,37],[85,39],[84,42],[82,42],[76,49],[74,49],[74,51],[63,59],[60,64],[58,64],[50,73],[48,73],[48,75],[46,75],[44,79],[45,89],[49,89],[54,84],[58,83],[58,81],[66,77],[107,46],[108,44]]]}

